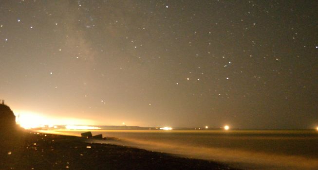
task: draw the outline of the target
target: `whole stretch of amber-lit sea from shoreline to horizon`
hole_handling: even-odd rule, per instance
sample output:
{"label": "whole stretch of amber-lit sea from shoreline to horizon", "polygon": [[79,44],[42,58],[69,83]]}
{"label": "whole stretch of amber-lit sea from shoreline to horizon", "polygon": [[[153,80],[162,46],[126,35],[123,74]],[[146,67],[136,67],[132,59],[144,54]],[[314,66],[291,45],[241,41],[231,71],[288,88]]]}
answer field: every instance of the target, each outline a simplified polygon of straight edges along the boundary
{"label": "whole stretch of amber-lit sea from shoreline to horizon", "polygon": [[[60,131],[80,136],[84,131]],[[318,170],[318,131],[92,131],[97,141],[224,162],[244,169]]]}

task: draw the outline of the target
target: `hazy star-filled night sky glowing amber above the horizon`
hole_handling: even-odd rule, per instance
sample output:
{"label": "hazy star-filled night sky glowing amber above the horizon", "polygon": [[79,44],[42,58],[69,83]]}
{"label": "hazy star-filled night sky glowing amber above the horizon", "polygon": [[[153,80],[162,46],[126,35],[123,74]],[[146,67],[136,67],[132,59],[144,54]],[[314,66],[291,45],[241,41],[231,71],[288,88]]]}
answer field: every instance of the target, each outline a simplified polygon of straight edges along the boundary
{"label": "hazy star-filled night sky glowing amber above the horizon", "polygon": [[317,0],[1,0],[0,98],[95,125],[318,125]]}

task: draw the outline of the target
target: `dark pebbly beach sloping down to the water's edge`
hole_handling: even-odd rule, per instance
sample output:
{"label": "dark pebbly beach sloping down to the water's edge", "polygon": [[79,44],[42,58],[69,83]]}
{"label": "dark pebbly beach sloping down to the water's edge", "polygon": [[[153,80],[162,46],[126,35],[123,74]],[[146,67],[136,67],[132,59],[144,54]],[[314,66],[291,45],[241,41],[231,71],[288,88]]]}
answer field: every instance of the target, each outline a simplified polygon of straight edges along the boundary
{"label": "dark pebbly beach sloping down to the water's edge", "polygon": [[0,170],[233,170],[205,160],[109,144],[76,136],[19,133],[0,139]]}

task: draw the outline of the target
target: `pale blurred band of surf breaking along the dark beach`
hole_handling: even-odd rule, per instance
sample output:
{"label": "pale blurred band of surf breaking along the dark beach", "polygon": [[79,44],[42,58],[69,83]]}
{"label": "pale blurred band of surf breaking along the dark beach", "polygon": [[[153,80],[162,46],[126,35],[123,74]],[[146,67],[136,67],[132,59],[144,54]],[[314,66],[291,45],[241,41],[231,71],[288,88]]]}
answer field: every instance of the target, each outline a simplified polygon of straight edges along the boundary
{"label": "pale blurred band of surf breaking along the dark beach", "polygon": [[224,162],[233,167],[263,170],[317,170],[318,159],[295,155],[251,152],[241,149],[198,147],[180,143],[123,138],[120,141],[95,142],[131,146],[155,152],[177,154],[189,158]]}

